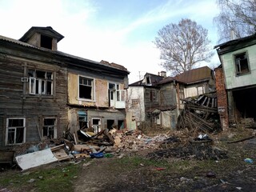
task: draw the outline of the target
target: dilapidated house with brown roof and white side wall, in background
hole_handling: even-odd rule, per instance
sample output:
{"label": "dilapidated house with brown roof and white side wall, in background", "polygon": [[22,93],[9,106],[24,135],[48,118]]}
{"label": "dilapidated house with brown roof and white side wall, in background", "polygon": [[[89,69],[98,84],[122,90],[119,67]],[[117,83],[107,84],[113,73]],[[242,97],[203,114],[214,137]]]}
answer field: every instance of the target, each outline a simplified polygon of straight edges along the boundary
{"label": "dilapidated house with brown roof and white side wall, in background", "polygon": [[129,85],[127,126],[143,122],[151,127],[174,129],[183,109],[182,100],[215,90],[214,79],[214,72],[208,66],[175,77],[166,77],[163,72],[146,74],[142,81]]}

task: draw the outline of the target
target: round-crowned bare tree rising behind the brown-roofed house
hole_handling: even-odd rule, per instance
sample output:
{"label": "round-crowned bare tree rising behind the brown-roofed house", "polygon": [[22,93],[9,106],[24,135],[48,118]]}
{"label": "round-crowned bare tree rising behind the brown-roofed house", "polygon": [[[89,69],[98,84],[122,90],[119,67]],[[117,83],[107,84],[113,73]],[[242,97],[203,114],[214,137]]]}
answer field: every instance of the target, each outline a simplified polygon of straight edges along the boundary
{"label": "round-crowned bare tree rising behind the brown-roofed house", "polygon": [[154,44],[161,51],[160,64],[171,74],[181,74],[214,55],[207,38],[208,30],[190,19],[168,24],[158,31]]}

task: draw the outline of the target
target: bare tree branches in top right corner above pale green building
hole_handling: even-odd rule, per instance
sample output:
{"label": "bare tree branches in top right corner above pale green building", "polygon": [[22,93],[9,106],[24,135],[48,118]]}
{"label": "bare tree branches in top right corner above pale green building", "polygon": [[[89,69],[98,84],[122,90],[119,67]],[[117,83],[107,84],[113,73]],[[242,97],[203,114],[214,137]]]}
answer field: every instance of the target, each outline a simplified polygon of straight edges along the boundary
{"label": "bare tree branches in top right corner above pale green building", "polygon": [[217,0],[220,14],[214,18],[218,42],[242,38],[255,33],[256,0]]}

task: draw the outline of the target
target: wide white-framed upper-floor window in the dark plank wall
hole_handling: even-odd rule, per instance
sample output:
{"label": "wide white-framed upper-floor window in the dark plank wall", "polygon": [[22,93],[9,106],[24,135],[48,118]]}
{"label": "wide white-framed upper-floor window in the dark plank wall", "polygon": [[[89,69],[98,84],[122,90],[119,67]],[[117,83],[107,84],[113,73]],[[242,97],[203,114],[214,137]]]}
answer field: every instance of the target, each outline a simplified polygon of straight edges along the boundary
{"label": "wide white-framed upper-floor window in the dark plank wall", "polygon": [[53,73],[44,70],[29,70],[30,94],[53,94]]}

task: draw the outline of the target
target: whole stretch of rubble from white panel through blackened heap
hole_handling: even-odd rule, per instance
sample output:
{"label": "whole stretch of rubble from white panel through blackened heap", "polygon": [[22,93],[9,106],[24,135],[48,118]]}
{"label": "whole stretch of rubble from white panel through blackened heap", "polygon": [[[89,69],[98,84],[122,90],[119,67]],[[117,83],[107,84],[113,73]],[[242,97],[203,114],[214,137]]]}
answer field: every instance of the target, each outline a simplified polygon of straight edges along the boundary
{"label": "whole stretch of rubble from white panel through blackened heap", "polygon": [[[63,134],[62,138],[25,143],[17,150],[15,161],[22,170],[51,162],[81,162],[86,158],[122,158],[124,153],[154,151],[148,158],[226,158],[226,151],[214,147],[207,134],[191,138],[191,132],[146,136],[140,130],[101,130],[98,134],[78,130],[80,134]],[[72,135],[72,137],[70,137]],[[47,158],[48,157],[48,158]],[[33,159],[33,160],[32,160]]]}

